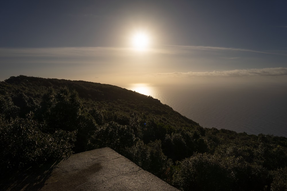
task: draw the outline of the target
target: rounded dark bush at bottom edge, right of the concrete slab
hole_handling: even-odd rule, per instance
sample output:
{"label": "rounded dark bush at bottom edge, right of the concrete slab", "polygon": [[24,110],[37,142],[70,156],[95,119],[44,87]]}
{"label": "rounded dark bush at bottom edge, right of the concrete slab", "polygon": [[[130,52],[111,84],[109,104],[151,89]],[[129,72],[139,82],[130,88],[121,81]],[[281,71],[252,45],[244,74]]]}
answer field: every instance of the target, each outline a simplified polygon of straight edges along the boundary
{"label": "rounded dark bush at bottom edge, right of the concrete slab", "polygon": [[196,153],[179,163],[174,184],[182,190],[230,190],[229,178],[220,159],[211,154]]}

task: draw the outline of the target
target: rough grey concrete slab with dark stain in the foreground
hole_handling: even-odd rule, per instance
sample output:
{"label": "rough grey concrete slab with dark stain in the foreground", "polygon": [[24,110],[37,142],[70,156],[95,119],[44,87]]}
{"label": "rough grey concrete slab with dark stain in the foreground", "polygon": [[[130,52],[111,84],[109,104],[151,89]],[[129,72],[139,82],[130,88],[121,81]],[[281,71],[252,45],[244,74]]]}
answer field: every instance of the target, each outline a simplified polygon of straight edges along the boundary
{"label": "rough grey concrete slab with dark stain in the foreground", "polygon": [[177,190],[106,147],[62,160],[41,190]]}

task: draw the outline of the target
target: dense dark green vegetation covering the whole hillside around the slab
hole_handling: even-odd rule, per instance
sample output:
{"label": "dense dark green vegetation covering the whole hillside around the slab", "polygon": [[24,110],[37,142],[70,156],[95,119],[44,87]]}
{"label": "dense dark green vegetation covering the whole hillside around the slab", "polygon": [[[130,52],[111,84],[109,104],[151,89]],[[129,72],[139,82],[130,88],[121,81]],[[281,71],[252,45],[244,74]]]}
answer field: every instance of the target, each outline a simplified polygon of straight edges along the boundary
{"label": "dense dark green vegetation covering the whole hillside around the slab", "polygon": [[100,147],[180,190],[287,190],[286,137],[202,128],[157,99],[107,84],[0,82],[2,181]]}

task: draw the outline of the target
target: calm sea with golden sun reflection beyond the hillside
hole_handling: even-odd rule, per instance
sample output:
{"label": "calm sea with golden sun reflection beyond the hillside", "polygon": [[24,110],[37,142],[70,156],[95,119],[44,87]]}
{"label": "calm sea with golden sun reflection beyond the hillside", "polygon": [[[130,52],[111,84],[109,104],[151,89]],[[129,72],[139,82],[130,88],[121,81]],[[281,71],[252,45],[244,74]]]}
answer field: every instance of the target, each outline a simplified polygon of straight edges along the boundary
{"label": "calm sea with golden sun reflection beyond the hillside", "polygon": [[124,88],[150,95],[202,127],[287,137],[287,85],[152,85]]}

